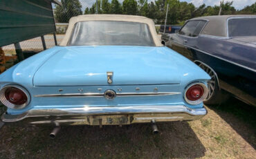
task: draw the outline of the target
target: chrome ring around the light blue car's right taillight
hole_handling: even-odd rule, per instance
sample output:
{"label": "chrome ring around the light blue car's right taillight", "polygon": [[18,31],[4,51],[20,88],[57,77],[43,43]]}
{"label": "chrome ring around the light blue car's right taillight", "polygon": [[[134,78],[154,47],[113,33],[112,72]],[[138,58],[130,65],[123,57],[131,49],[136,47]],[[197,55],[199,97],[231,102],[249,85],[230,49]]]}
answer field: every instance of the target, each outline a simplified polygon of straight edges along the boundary
{"label": "chrome ring around the light blue car's right taillight", "polygon": [[[203,95],[202,97],[199,98],[199,100],[188,100],[188,97],[186,95],[188,89],[191,87],[191,86],[194,86],[194,85],[200,85],[203,87]],[[192,84],[189,84],[186,88],[185,88],[185,91],[184,91],[184,99],[185,99],[185,102],[188,102],[188,104],[191,104],[191,105],[196,105],[196,104],[200,104],[201,102],[203,102],[203,100],[205,100],[205,98],[207,97],[208,95],[208,88],[205,84],[201,83],[201,82],[194,82]]]}

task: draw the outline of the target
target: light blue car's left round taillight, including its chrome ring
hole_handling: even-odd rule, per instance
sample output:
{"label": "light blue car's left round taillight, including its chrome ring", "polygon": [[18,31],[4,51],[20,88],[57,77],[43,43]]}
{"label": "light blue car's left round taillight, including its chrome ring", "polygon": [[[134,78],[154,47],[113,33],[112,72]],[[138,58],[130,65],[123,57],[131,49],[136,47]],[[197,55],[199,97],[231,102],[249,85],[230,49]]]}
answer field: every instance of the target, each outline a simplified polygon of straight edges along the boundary
{"label": "light blue car's left round taillight, including its chrome ring", "polygon": [[4,105],[12,109],[22,109],[30,102],[30,95],[25,88],[10,84],[1,88],[0,100]]}

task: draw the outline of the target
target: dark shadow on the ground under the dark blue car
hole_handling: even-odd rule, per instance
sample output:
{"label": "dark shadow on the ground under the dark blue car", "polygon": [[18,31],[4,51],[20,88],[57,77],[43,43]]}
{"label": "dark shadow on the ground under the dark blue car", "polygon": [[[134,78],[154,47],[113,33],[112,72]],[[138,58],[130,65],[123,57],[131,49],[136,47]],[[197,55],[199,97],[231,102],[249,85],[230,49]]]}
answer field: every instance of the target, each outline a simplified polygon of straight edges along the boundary
{"label": "dark shadow on the ground under the dark blue car", "polygon": [[[256,107],[235,97],[220,106],[209,106],[225,120],[246,142],[256,149]],[[235,118],[234,118],[235,117]]]}

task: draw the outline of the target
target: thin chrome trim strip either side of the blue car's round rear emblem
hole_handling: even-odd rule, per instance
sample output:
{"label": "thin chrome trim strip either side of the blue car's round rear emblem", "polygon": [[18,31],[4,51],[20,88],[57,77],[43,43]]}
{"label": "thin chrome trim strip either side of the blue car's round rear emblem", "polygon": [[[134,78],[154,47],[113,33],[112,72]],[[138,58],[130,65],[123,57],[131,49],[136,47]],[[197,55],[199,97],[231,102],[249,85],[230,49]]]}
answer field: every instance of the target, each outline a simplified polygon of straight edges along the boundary
{"label": "thin chrome trim strip either side of the blue car's round rear emblem", "polygon": [[[179,95],[180,92],[157,92],[157,93],[116,93],[116,96],[156,96],[156,95]],[[104,93],[66,93],[66,94],[46,94],[34,95],[34,97],[104,97]]]}

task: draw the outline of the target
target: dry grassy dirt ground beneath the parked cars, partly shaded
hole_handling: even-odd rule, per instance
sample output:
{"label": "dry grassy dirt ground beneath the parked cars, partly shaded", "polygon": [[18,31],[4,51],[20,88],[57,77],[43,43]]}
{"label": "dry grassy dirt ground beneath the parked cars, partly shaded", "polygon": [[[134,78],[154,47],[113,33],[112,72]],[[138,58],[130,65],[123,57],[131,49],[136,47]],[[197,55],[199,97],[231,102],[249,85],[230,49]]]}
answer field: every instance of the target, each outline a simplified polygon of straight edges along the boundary
{"label": "dry grassy dirt ground beneath the parked cars, partly shaded", "polygon": [[0,129],[0,158],[255,158],[256,108],[232,99],[191,122]]}

